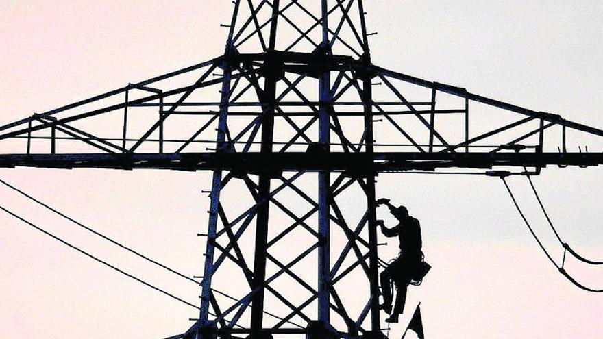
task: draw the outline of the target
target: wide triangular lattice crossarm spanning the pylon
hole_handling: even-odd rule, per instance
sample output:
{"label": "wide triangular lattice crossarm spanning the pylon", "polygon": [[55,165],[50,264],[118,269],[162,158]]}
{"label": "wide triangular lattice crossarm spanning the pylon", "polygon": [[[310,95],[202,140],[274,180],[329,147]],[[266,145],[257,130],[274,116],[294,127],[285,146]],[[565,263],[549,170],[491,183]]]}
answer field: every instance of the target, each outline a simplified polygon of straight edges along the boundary
{"label": "wide triangular lattice crossarm spanning the pylon", "polygon": [[[347,161],[352,162],[359,154],[371,153],[367,151],[367,132],[358,131],[358,126],[365,125],[365,116],[368,115],[372,117],[369,124],[371,127],[374,125],[373,128],[386,130],[376,134],[376,142],[373,142],[374,152],[380,154],[373,158],[378,171],[422,169],[413,164],[407,164],[406,168],[388,168],[384,165],[384,160],[389,162],[392,160],[389,157],[393,155],[430,160],[434,164],[426,166],[430,170],[441,166],[488,168],[496,166],[500,163],[499,160],[504,160],[505,165],[514,166],[515,159],[522,162],[525,158],[541,159],[543,166],[564,165],[566,160],[568,165],[581,165],[582,161],[587,162],[586,165],[593,165],[593,160],[600,155],[599,152],[588,153],[587,149],[580,149],[580,152],[567,151],[567,142],[570,141],[567,135],[574,133],[574,136],[578,132],[599,137],[603,135],[601,129],[567,121],[555,114],[535,112],[474,95],[462,88],[385,71],[338,55],[278,51],[254,55],[236,54],[236,51],[232,53],[234,55],[226,55],[140,84],[130,84],[104,95],[4,125],[0,127],[0,147],[4,153],[0,155],[0,166],[169,168],[184,171],[229,167],[236,166],[236,158],[241,158],[243,162],[246,157],[253,159],[271,155],[277,157],[274,158],[277,160],[280,156],[286,158],[288,153],[315,151],[319,149],[321,140],[312,135],[316,134],[314,129],[321,130],[323,136],[328,134],[330,153],[335,153],[338,159],[349,155]],[[225,64],[230,64],[232,69],[217,74],[217,71],[223,71]],[[324,64],[329,64],[330,67],[322,71],[321,76]],[[193,84],[163,90],[153,89],[151,95],[140,95],[140,92],[149,93],[149,85],[166,79],[177,79],[179,75],[193,71],[201,73],[201,77]],[[274,112],[269,112],[262,102],[267,91],[259,83],[268,73],[275,73],[275,90],[276,87],[280,90],[275,97]],[[330,91],[323,91],[323,99],[317,96],[312,98],[311,94],[307,95],[299,89],[302,86],[318,87],[326,75],[332,79],[332,86]],[[210,79],[210,76],[215,79]],[[377,92],[374,81],[378,80],[381,88]],[[228,102],[187,100],[196,91],[203,90],[205,94],[226,81],[232,82]],[[408,84],[426,88],[428,98],[417,101],[406,99],[402,92],[403,86]],[[375,100],[366,105],[363,101],[367,91],[365,88],[371,90],[375,97]],[[222,97],[225,96],[225,90],[227,88],[219,89]],[[134,92],[138,92],[137,99],[132,99]],[[434,98],[441,94],[448,95],[447,100],[459,97],[461,107],[439,110]],[[129,99],[116,103],[116,97],[120,95]],[[380,95],[389,95],[389,99],[380,100]],[[243,101],[243,97],[255,99]],[[352,99],[348,99],[350,97]],[[326,105],[325,98],[332,102]],[[109,102],[112,104],[105,105]],[[482,113],[476,108],[471,114],[472,119],[476,120],[488,118],[492,127],[475,132],[469,129],[471,103],[480,105],[482,111],[496,109],[495,112]],[[92,107],[94,109],[90,109]],[[156,118],[147,113],[153,108],[157,109],[154,115]],[[138,136],[132,136],[134,132],[131,129],[136,127],[132,126],[132,119],[137,109],[146,110],[142,115],[149,127],[138,131]],[[225,139],[216,140],[210,135],[218,129],[217,125],[225,114],[225,109],[230,120],[236,120],[232,125],[238,126],[238,131],[234,134],[225,130]],[[119,125],[111,124],[108,128],[98,130],[95,123],[102,125],[104,119],[116,121],[119,114],[123,116],[119,118]],[[513,119],[513,114],[517,118]],[[284,139],[273,140],[273,151],[269,155],[260,151],[262,141],[256,138],[268,116],[273,117],[278,124],[278,134],[285,136]],[[325,123],[325,116],[330,117],[329,123]],[[436,125],[436,118],[439,116],[458,117],[458,121],[464,126],[450,129],[445,125]],[[505,121],[504,116],[506,121],[497,123],[498,116]],[[184,119],[190,121],[192,118],[201,121],[196,123],[199,124],[198,128],[177,133],[180,136],[176,137],[173,130],[180,128],[178,124]],[[321,125],[322,129],[317,125]],[[409,128],[407,125],[417,128]],[[366,128],[365,126],[364,129]],[[284,129],[286,133],[282,133]],[[356,129],[354,136],[347,134],[349,129]],[[170,135],[174,137],[166,137],[170,131]],[[119,136],[106,137],[101,136],[101,133]],[[419,142],[419,139],[426,142]],[[222,151],[217,151],[218,149]],[[230,156],[232,153],[238,155]],[[242,153],[245,155],[241,155]],[[487,167],[474,166],[471,161],[464,164],[443,161],[451,158],[479,160],[488,158],[486,154],[492,159]],[[251,160],[245,162],[253,163]],[[538,163],[531,162],[532,166]],[[595,160],[594,163],[599,162]],[[286,162],[279,162],[277,166],[295,169]],[[306,168],[298,168],[312,170],[316,167],[316,164],[308,163]]]}

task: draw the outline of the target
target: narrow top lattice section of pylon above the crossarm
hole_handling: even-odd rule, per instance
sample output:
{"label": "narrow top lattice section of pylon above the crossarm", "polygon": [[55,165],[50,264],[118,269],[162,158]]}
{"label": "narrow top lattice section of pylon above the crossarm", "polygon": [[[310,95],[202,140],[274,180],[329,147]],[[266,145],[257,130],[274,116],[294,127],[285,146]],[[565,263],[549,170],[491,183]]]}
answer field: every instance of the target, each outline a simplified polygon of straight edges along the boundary
{"label": "narrow top lattice section of pylon above the crossarm", "polygon": [[362,0],[234,0],[227,49],[293,51],[367,57]]}

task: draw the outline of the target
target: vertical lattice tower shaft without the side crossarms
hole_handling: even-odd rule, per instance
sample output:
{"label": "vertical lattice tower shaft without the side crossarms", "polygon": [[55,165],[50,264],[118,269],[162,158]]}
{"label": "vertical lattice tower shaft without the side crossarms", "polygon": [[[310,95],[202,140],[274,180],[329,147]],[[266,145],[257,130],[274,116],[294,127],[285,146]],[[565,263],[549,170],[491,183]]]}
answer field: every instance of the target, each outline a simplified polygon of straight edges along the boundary
{"label": "vertical lattice tower shaft without the side crossarms", "polygon": [[[247,12],[243,12],[244,7],[247,7]],[[295,23],[295,15],[293,17],[288,15],[287,10],[290,12],[291,10],[297,10],[307,14],[313,21],[310,28],[305,31],[300,29],[302,25]],[[236,1],[232,22],[229,26],[230,32],[226,42],[224,60],[219,66],[223,70],[224,78],[221,90],[217,151],[225,153],[238,151],[236,145],[233,144],[237,141],[236,138],[227,138],[229,131],[227,118],[230,113],[229,108],[231,107],[232,89],[234,87],[232,72],[238,71],[239,73],[248,73],[244,75],[249,82],[247,86],[251,86],[254,90],[256,94],[254,101],[257,101],[261,108],[261,112],[256,118],[257,123],[253,127],[254,130],[251,131],[251,136],[255,136],[258,130],[261,129],[260,155],[270,155],[277,151],[274,142],[275,123],[278,123],[277,120],[280,119],[282,119],[281,123],[286,122],[295,129],[293,138],[289,138],[284,146],[278,150],[280,153],[295,145],[296,140],[302,139],[306,143],[304,151],[307,154],[312,155],[318,161],[327,159],[332,149],[331,131],[333,130],[336,132],[336,136],[339,136],[340,145],[346,152],[361,153],[360,149],[364,148],[362,153],[371,154],[373,152],[373,121],[371,114],[362,114],[360,119],[357,119],[365,127],[360,142],[357,143],[349,141],[352,138],[345,135],[341,123],[335,115],[337,103],[344,103],[336,95],[343,79],[348,79],[350,86],[358,91],[357,102],[351,104],[362,105],[365,112],[371,110],[367,103],[371,101],[372,77],[369,73],[363,71],[371,65],[363,13],[362,1],[356,3],[348,1],[345,4],[341,1],[315,1],[312,4],[302,4],[297,1],[281,4],[278,0],[272,4],[268,1],[256,1],[255,3],[248,1],[247,4],[244,1]],[[336,15],[339,15],[339,17],[335,18]],[[283,29],[283,26],[286,27]],[[346,30],[348,32],[345,32]],[[246,34],[246,31],[251,32]],[[297,35],[293,42],[287,41],[286,38],[287,34],[293,35],[291,33]],[[343,38],[345,34],[352,38],[349,42]],[[338,50],[342,51],[340,55],[334,53]],[[245,51],[245,55],[241,54],[243,51]],[[354,59],[354,56],[350,57],[348,55],[354,55],[356,59]],[[332,73],[335,75],[334,81],[332,81]],[[306,80],[306,84],[302,84],[304,80]],[[279,88],[279,83],[284,85],[283,88]],[[282,105],[288,92],[295,94],[293,101],[286,103],[291,107],[289,110]],[[291,110],[301,110],[301,112],[291,112]],[[293,121],[296,114],[311,114],[312,118],[304,125],[297,125]],[[332,116],[335,117],[333,120],[331,119]],[[312,129],[315,130],[312,131]],[[308,136],[309,131],[311,131],[312,137]],[[254,137],[250,137],[248,141],[253,139]],[[248,146],[247,149],[249,149]],[[247,150],[244,148],[243,152],[245,151]],[[267,165],[268,167],[272,166],[269,162],[267,162]],[[343,330],[344,332],[351,335],[358,335],[360,331],[380,333],[380,314],[378,310],[379,263],[374,213],[374,177],[376,173],[360,169],[358,173],[340,173],[339,177],[332,181],[331,171],[326,168],[318,171],[317,176],[312,178],[315,184],[304,183],[303,186],[298,186],[298,178],[304,174],[304,171],[307,171],[307,168],[302,166],[295,169],[297,170],[293,172],[295,174],[288,178],[283,177],[282,171],[279,169],[273,170],[271,168],[262,168],[256,173],[243,171],[234,174],[238,176],[238,179],[245,181],[247,189],[256,201],[256,205],[251,207],[251,209],[254,209],[253,213],[256,214],[252,271],[247,267],[244,255],[236,244],[236,240],[241,237],[241,230],[246,227],[245,223],[251,221],[251,214],[246,216],[247,219],[243,221],[245,226],[242,225],[236,235],[233,234],[232,230],[229,230],[229,220],[225,217],[223,211],[223,206],[227,204],[221,203],[220,193],[225,186],[225,181],[230,177],[224,177],[221,170],[214,171],[199,327],[211,326],[216,322],[209,318],[210,305],[214,310],[219,310],[219,305],[217,305],[217,301],[212,295],[212,277],[217,273],[217,266],[231,250],[235,253],[238,268],[241,268],[245,275],[244,281],[241,281],[243,283],[241,288],[250,291],[245,294],[243,299],[230,306],[227,311],[234,311],[234,307],[238,307],[238,310],[236,310],[233,319],[230,320],[230,324],[227,325],[223,322],[221,328],[234,327],[234,324],[241,319],[245,308],[251,307],[249,331],[254,338],[264,338],[268,334],[308,334],[311,338],[325,338],[329,334],[336,336],[337,333],[330,321],[331,309],[333,309],[343,318],[343,323],[347,327]],[[257,175],[257,181],[250,178],[251,174]],[[229,173],[229,175],[231,174]],[[343,185],[344,178],[347,178],[347,187]],[[275,187],[277,181],[282,182],[279,182],[280,186]],[[355,182],[360,186],[362,194],[366,196],[367,212],[360,221],[354,222],[358,224],[358,227],[352,229],[341,210],[339,210],[335,197],[341,191],[349,190],[349,186],[352,186]],[[297,194],[313,205],[312,209],[303,215],[288,210],[273,197],[275,192],[278,192],[284,186],[293,188]],[[312,190],[317,193],[316,197],[309,196],[308,193]],[[274,208],[280,209],[293,218],[293,225],[282,228],[278,223],[271,222],[270,210]],[[332,215],[331,211],[335,215]],[[313,214],[317,214],[315,223],[308,220]],[[220,249],[221,256],[216,260],[214,252],[217,248],[216,238],[220,231],[218,229],[219,221],[222,223],[221,227],[224,227],[221,229],[222,233],[227,233],[231,243],[225,249]],[[333,251],[330,247],[331,221],[339,225],[347,236],[347,245],[339,251]],[[276,227],[280,228],[269,241],[269,229]],[[304,227],[308,231],[315,240],[313,241],[314,244],[297,255],[295,259],[283,264],[278,255],[270,253],[270,247],[278,241],[284,241],[285,236],[298,227]],[[368,229],[367,236],[364,237],[360,235],[363,227]],[[230,245],[232,245],[231,249],[228,249]],[[365,251],[362,251],[359,248],[360,246],[366,247]],[[348,314],[334,284],[343,261],[352,249],[356,255],[354,266],[362,266],[369,288],[369,291],[367,291],[369,293],[364,293],[365,307],[361,314],[355,315],[354,318],[351,318],[351,314]],[[317,281],[312,284],[311,281],[304,281],[304,277],[293,273],[291,267],[314,251],[317,252],[315,268],[317,269]],[[331,262],[332,253],[338,255],[334,265]],[[366,262],[367,258],[369,259],[368,264]],[[278,272],[267,276],[267,262],[277,265]],[[352,269],[354,266],[352,266]],[[296,286],[292,288],[293,290],[300,288],[310,292],[310,298],[304,301],[302,305],[293,305],[282,294],[282,291],[276,290],[269,284],[269,281],[273,281],[284,273],[296,280]],[[264,321],[264,309],[267,308],[265,307],[264,298],[267,292],[273,294],[276,299],[291,308],[291,313],[288,316],[268,327],[267,321]],[[334,305],[331,297],[333,297]],[[317,313],[315,316],[308,316],[306,315],[307,308],[310,308],[309,305],[312,303],[315,303]],[[371,330],[367,332],[361,328],[361,325],[369,314]],[[294,316],[310,323],[308,328],[301,330],[281,328],[283,325],[288,325],[287,322]],[[225,316],[218,316],[218,322],[223,318]],[[270,329],[267,330],[267,328]]]}

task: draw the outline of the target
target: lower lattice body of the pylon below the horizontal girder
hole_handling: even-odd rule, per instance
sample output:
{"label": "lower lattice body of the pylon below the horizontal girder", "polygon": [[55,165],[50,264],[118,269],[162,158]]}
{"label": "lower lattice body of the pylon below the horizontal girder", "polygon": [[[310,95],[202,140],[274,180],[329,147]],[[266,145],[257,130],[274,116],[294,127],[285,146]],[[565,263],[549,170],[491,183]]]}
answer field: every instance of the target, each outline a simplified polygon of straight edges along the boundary
{"label": "lower lattice body of the pylon below the horizontal girder", "polygon": [[[343,194],[364,193],[369,197],[370,194],[374,194],[374,186],[367,184],[367,179],[347,177],[343,173],[336,175],[334,181],[327,188],[329,211],[327,217],[330,225],[334,226],[330,231],[338,233],[339,237],[345,240],[343,242],[345,246],[330,251],[334,262],[325,276],[321,276],[319,271],[319,274],[316,275],[318,281],[308,281],[305,270],[314,266],[312,262],[319,256],[321,242],[329,241],[329,238],[321,233],[319,223],[315,221],[321,205],[316,197],[311,197],[304,190],[308,186],[308,179],[314,181],[318,179],[318,175],[305,172],[276,175],[270,178],[274,186],[264,196],[260,195],[261,179],[261,175],[231,171],[221,180],[221,192],[225,192],[230,186],[235,186],[233,190],[242,199],[246,194],[241,192],[241,188],[245,188],[247,190],[245,193],[248,193],[254,203],[244,208],[240,214],[230,213],[227,203],[219,203],[216,213],[219,221],[215,229],[210,229],[206,250],[206,258],[208,253],[214,251],[217,256],[214,257],[212,264],[206,266],[204,281],[208,281],[207,277],[213,277],[214,284],[216,281],[231,280],[227,284],[228,287],[225,286],[226,284],[217,286],[222,291],[230,287],[230,293],[238,297],[217,299],[220,296],[213,293],[212,288],[208,288],[207,300],[203,299],[202,304],[205,302],[212,305],[212,312],[217,314],[217,317],[205,324],[199,321],[198,325],[201,326],[191,329],[188,334],[190,338],[195,338],[195,335],[198,334],[197,331],[207,330],[208,326],[211,327],[214,324],[217,324],[216,333],[222,335],[303,334],[306,324],[311,324],[316,319],[312,316],[314,312],[310,310],[310,306],[318,307],[319,305],[319,288],[321,287],[319,283],[322,281],[325,281],[322,284],[327,285],[331,299],[327,303],[328,312],[337,316],[336,319],[333,319],[333,323],[340,325],[339,328],[333,327],[334,334],[348,337],[369,333],[370,328],[367,329],[365,326],[365,320],[373,305],[373,296],[369,292],[369,281],[371,281],[369,279],[371,277],[369,260],[371,253],[376,254],[371,251],[376,248],[376,245],[372,244],[375,239],[371,240],[372,232],[369,230],[370,212],[369,209],[366,209],[365,212],[351,216],[349,211],[341,206],[338,199]],[[372,180],[370,179],[368,183]],[[315,188],[318,188],[317,186],[315,185]],[[287,203],[281,198],[283,194],[289,198],[291,198],[291,194],[294,194],[297,199],[304,201],[304,208]],[[315,194],[315,196],[317,195]],[[280,218],[275,216],[277,221],[271,224],[269,237],[262,225],[265,221],[262,221],[260,216],[267,206],[282,214]],[[296,210],[300,212],[296,212]],[[210,210],[210,219],[213,217],[214,214]],[[280,223],[281,218],[288,221]],[[255,229],[254,221],[256,221]],[[246,237],[250,238],[245,240]],[[283,255],[280,249],[297,248],[297,245],[291,244],[292,239],[297,239],[297,245],[304,248],[299,249],[299,253],[295,251]],[[262,246],[259,250],[258,241]],[[254,243],[256,244],[256,247],[253,247],[254,251],[245,250],[248,244]],[[258,256],[261,257],[261,260],[266,260],[273,268],[273,272],[269,274],[267,271],[263,271],[264,278],[259,281],[256,279],[257,268],[252,269],[249,266],[252,260],[254,264],[257,262]],[[310,261],[309,258],[314,260]],[[264,264],[264,268],[267,265],[266,262],[262,262],[262,264]],[[378,262],[377,264],[384,263]],[[234,268],[240,271],[240,274],[234,274]],[[224,275],[227,277],[224,278]],[[288,279],[282,281],[283,277],[288,277]],[[364,291],[352,289],[354,299],[359,301],[362,307],[358,307],[358,305],[355,308],[350,307],[349,288],[343,288],[343,286],[349,286],[351,283],[356,287],[362,286],[362,281],[366,281]],[[254,297],[260,295],[258,292],[262,290],[270,294],[271,301],[264,303],[259,308],[258,312],[264,319],[261,327],[254,328],[254,316],[257,316],[253,312]],[[305,295],[304,300],[297,304],[291,301],[295,300],[296,294]],[[258,304],[256,303],[256,305]],[[282,316],[275,316],[274,314],[282,308],[288,311]]]}

